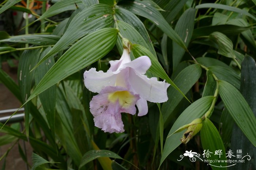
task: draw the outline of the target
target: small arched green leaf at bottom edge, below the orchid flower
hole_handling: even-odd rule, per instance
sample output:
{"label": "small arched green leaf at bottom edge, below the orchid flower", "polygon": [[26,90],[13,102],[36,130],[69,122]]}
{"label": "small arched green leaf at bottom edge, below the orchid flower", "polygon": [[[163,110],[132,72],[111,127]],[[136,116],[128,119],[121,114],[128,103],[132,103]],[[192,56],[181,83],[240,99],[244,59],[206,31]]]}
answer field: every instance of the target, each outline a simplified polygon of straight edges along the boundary
{"label": "small arched green leaf at bottom edge, below the orchid flower", "polygon": [[109,150],[90,150],[83,155],[79,169],[81,167],[83,167],[86,163],[93,161],[94,159],[102,158],[102,157],[123,159],[120,156],[118,156],[117,154],[115,154]]}

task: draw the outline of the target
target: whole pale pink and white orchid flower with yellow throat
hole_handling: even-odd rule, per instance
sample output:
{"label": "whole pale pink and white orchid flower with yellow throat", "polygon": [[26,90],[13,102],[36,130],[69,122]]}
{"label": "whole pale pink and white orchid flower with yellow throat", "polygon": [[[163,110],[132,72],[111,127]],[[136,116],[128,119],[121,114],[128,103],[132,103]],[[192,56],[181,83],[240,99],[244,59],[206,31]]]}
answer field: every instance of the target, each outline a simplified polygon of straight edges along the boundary
{"label": "whole pale pink and white orchid flower with yellow throat", "polygon": [[107,72],[91,68],[84,72],[84,84],[92,92],[99,93],[90,102],[90,111],[96,127],[104,132],[124,132],[121,112],[138,116],[148,112],[147,101],[166,102],[170,84],[147,78],[146,71],[151,66],[148,56],[132,60],[129,50],[124,49],[120,60],[110,61]]}

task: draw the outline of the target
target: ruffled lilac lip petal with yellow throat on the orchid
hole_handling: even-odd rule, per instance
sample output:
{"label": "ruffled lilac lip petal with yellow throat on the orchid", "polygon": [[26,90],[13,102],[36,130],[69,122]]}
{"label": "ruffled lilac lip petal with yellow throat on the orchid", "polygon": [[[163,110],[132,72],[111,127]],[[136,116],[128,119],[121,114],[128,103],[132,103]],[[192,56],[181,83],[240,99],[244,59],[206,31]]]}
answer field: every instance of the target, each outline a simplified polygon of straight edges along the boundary
{"label": "ruffled lilac lip petal with yellow throat on the orchid", "polygon": [[93,96],[90,102],[90,111],[94,116],[95,126],[104,132],[122,133],[124,124],[121,112],[134,115],[136,113],[135,104],[139,98],[139,95],[134,95],[124,87],[107,86],[103,88],[98,95]]}

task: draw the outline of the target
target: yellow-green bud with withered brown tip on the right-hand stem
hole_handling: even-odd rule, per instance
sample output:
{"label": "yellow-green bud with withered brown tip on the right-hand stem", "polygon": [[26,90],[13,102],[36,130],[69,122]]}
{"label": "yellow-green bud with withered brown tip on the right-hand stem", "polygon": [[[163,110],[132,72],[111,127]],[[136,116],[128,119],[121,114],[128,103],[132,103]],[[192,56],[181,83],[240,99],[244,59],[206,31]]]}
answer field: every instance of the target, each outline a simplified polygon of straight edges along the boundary
{"label": "yellow-green bud with withered brown tip on the right-hand stem", "polygon": [[182,135],[182,138],[180,139],[182,143],[188,143],[190,139],[193,138],[202,128],[202,119],[198,118],[193,120],[191,123],[187,124],[187,130]]}

